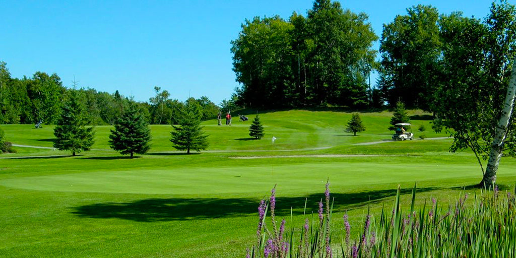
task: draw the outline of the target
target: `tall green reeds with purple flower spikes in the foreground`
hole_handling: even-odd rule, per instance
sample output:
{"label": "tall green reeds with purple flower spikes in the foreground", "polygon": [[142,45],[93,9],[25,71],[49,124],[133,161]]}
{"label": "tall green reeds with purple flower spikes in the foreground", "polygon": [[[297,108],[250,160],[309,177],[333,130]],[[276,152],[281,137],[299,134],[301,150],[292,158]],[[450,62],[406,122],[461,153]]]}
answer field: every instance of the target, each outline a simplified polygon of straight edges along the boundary
{"label": "tall green reeds with purple flower spikes in the foreground", "polygon": [[[511,192],[502,194],[497,187],[480,190],[468,205],[469,196],[463,192],[453,205],[432,199],[428,207],[425,201],[415,211],[416,186],[409,209],[401,207],[398,186],[392,210],[383,206],[377,219],[368,209],[357,239],[350,239],[348,216],[344,214],[341,243],[332,243],[329,183],[325,199],[319,202],[317,220],[305,219],[299,231],[292,228],[285,233],[284,219],[278,230],[275,195],[272,189],[269,201],[260,204],[257,241],[246,257],[516,257],[516,198]],[[268,207],[270,225],[266,224]]]}

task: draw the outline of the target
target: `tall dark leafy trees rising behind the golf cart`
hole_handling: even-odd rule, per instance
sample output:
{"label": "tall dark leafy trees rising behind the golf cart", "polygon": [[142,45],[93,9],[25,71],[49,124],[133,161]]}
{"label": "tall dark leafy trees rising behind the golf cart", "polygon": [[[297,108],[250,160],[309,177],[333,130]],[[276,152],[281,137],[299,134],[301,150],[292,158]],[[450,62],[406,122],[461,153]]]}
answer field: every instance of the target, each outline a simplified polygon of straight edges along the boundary
{"label": "tall dark leafy trees rising behind the golf cart", "polygon": [[380,85],[391,106],[401,100],[411,108],[430,108],[440,72],[438,20],[436,8],[417,5],[383,26]]}

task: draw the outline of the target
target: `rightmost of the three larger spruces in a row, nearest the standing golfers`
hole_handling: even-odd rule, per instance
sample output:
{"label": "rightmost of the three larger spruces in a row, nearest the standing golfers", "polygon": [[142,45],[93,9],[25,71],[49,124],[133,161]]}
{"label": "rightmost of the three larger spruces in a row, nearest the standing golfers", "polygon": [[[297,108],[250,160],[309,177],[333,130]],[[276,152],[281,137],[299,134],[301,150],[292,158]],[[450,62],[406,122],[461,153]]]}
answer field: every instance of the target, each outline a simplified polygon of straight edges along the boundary
{"label": "rightmost of the three larger spruces in a row, nearest the standing golfers", "polygon": [[187,101],[180,113],[180,126],[172,125],[174,131],[170,132],[172,146],[180,151],[186,150],[187,154],[190,150],[206,150],[208,141],[202,131],[199,107],[195,102]]}

